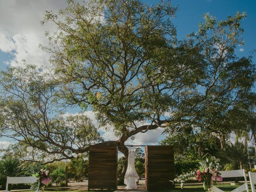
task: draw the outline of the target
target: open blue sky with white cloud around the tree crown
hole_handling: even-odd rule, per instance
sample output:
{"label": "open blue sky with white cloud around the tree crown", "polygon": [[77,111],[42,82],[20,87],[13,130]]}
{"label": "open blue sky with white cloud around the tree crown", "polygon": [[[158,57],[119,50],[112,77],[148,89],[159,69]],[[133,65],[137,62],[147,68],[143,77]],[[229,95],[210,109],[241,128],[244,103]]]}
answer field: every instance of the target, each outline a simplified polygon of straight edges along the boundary
{"label": "open blue sky with white cloud around the tree crown", "polygon": [[[158,1],[144,0],[144,2],[155,4]],[[247,19],[242,21],[242,27],[245,30],[245,46],[241,50],[237,48],[236,54],[247,56],[251,50],[256,49],[255,0],[173,0],[172,4],[178,6],[173,23],[177,28],[177,35],[180,40],[198,29],[198,23],[203,22],[202,15],[206,12],[215,16],[218,20],[224,20],[227,16],[234,16],[237,11],[245,11]],[[65,6],[65,0],[0,1],[0,18],[4,18],[0,20],[0,70],[5,70],[8,66],[6,62],[15,65],[15,60],[20,61],[23,58],[29,63],[45,65],[49,55],[43,53],[38,48],[38,44],[47,44],[44,31],[53,32],[55,26],[51,24],[40,26],[39,22],[45,10],[57,12],[59,8]],[[253,62],[256,63],[255,58]],[[149,134],[154,133],[150,132]],[[141,136],[142,138],[143,136]],[[140,143],[154,143],[161,138],[163,136],[158,133],[149,137],[148,140],[142,139]]]}

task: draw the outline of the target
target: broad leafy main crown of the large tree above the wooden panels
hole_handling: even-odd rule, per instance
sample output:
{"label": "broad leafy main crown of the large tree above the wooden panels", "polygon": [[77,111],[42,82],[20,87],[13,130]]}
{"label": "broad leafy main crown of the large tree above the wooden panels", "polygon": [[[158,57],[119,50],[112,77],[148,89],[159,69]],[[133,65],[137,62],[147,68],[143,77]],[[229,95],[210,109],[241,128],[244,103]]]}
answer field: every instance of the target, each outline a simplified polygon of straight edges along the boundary
{"label": "broad leafy main crown of the large tree above the wooden panels", "polygon": [[[168,0],[152,6],[140,0],[68,2],[58,15],[46,12],[42,24],[54,22],[58,30],[46,32],[50,43],[41,47],[52,54],[64,107],[90,108],[100,126],[114,128],[118,140],[100,144],[122,146],[159,126],[166,132],[215,129],[211,118],[250,94],[255,66],[250,57],[235,55],[244,13],[220,22],[206,14],[197,33],[178,41],[171,22],[177,8]],[[127,158],[127,148],[119,150]]]}

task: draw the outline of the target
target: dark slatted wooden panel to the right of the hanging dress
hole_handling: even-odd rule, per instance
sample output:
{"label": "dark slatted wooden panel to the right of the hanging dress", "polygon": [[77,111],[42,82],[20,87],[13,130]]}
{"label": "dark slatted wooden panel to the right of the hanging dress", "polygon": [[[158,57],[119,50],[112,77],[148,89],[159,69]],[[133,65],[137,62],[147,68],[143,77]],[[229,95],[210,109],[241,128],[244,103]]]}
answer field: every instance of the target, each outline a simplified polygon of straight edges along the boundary
{"label": "dark slatted wooden panel to the right of the hanging dress", "polygon": [[147,190],[173,189],[175,177],[172,146],[145,147],[145,182]]}

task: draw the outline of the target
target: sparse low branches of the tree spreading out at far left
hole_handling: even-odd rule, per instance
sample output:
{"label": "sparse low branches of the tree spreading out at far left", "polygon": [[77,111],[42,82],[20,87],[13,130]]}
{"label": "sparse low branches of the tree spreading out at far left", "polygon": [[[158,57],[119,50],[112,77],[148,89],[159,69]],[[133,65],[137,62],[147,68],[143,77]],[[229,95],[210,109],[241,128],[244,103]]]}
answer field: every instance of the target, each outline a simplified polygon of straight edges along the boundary
{"label": "sparse low branches of the tree spreading out at far left", "polygon": [[[5,157],[51,161],[52,154],[54,160],[61,160],[102,141],[87,116],[60,112],[66,104],[58,98],[59,89],[50,74],[26,62],[0,72],[0,137],[17,140],[1,150]],[[28,146],[34,148],[31,156],[26,151]]]}

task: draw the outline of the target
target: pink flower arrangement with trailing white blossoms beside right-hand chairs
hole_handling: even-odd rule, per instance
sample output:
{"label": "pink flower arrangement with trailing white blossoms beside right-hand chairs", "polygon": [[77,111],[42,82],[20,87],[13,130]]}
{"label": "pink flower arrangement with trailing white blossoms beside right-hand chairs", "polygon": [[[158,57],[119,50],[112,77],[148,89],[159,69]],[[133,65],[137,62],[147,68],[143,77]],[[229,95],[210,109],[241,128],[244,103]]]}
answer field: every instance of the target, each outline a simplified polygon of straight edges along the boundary
{"label": "pink flower arrangement with trailing white blossoms beside right-hand chairs", "polygon": [[193,180],[196,178],[199,182],[203,182],[204,190],[208,191],[213,184],[222,181],[222,176],[219,172],[220,159],[211,156],[206,160],[200,162],[200,166],[193,172],[182,174],[175,178],[172,182],[180,183],[180,187],[183,188],[184,183],[187,180]]}

